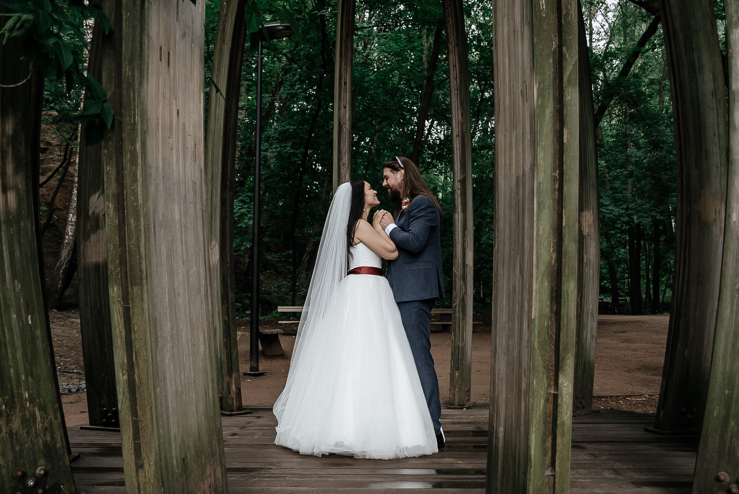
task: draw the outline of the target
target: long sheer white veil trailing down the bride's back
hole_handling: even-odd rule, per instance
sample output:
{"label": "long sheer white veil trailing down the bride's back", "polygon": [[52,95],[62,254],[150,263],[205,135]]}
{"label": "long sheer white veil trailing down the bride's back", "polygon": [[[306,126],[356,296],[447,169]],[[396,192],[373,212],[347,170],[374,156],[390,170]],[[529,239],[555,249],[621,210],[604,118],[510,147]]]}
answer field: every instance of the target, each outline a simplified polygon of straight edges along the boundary
{"label": "long sheer white veil trailing down the bride's back", "polygon": [[300,317],[298,335],[295,337],[293,357],[290,360],[290,373],[287,374],[285,389],[275,402],[273,412],[278,422],[282,420],[285,404],[295,381],[293,368],[299,362],[305,341],[309,340],[323,318],[333,298],[339,282],[347,275],[347,223],[352,200],[352,187],[349,182],[338,186],[326,216],[321,244],[316,258],[316,267],[310,279],[310,287],[305,297],[303,313]]}

